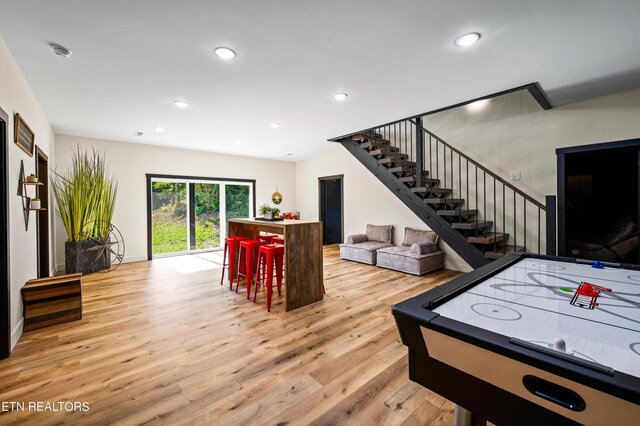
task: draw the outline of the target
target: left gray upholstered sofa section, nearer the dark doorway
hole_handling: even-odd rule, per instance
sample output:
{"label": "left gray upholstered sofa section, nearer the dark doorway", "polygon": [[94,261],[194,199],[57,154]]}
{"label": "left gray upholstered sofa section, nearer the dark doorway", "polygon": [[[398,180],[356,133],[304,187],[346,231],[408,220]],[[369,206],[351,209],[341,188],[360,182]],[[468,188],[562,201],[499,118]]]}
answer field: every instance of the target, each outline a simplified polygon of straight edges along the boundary
{"label": "left gray upholstered sofa section, nearer the dark doorway", "polygon": [[366,234],[355,234],[347,237],[347,242],[340,244],[340,259],[376,264],[376,251],[391,247],[393,241],[393,225],[367,225]]}

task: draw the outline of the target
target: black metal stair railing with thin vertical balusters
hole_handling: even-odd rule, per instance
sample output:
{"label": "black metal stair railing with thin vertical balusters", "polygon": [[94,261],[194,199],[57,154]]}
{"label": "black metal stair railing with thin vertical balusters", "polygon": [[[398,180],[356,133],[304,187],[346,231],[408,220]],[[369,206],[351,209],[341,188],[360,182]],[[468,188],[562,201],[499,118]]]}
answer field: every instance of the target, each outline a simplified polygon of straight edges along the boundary
{"label": "black metal stair railing with thin vertical balusters", "polygon": [[[493,252],[541,253],[546,206],[422,126],[422,117],[398,120],[340,136],[366,139],[361,146],[381,157],[426,204],[465,235],[493,242]],[[427,198],[428,196],[434,198]],[[475,226],[474,226],[475,222]],[[508,241],[511,240],[511,241]],[[520,244],[520,246],[519,246]],[[485,247],[486,248],[486,247]]]}

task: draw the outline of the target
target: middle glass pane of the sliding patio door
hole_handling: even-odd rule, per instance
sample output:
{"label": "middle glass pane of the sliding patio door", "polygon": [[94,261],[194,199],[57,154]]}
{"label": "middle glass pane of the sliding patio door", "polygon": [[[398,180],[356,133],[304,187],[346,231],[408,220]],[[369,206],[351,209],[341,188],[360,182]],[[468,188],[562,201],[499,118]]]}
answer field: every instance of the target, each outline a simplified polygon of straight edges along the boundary
{"label": "middle glass pane of the sliding patio door", "polygon": [[195,249],[220,247],[220,185],[194,184]]}

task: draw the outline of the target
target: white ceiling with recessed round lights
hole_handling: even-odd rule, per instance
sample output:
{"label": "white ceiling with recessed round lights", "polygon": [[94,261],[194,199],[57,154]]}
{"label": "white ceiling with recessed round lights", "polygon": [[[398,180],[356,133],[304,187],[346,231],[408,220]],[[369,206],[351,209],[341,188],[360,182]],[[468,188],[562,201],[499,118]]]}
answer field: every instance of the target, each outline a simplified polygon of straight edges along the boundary
{"label": "white ceiling with recessed round lights", "polygon": [[282,160],[535,81],[554,105],[640,87],[638,22],[638,0],[0,0],[57,133]]}

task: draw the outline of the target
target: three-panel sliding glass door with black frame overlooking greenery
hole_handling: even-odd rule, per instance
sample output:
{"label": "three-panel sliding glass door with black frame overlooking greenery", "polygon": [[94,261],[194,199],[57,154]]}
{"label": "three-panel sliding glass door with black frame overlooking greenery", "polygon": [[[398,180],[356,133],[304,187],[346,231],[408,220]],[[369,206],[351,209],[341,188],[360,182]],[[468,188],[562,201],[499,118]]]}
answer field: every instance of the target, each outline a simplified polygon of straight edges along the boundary
{"label": "three-panel sliding glass door with black frame overlooking greenery", "polygon": [[253,216],[253,181],[147,180],[149,258],[220,249],[227,219]]}

